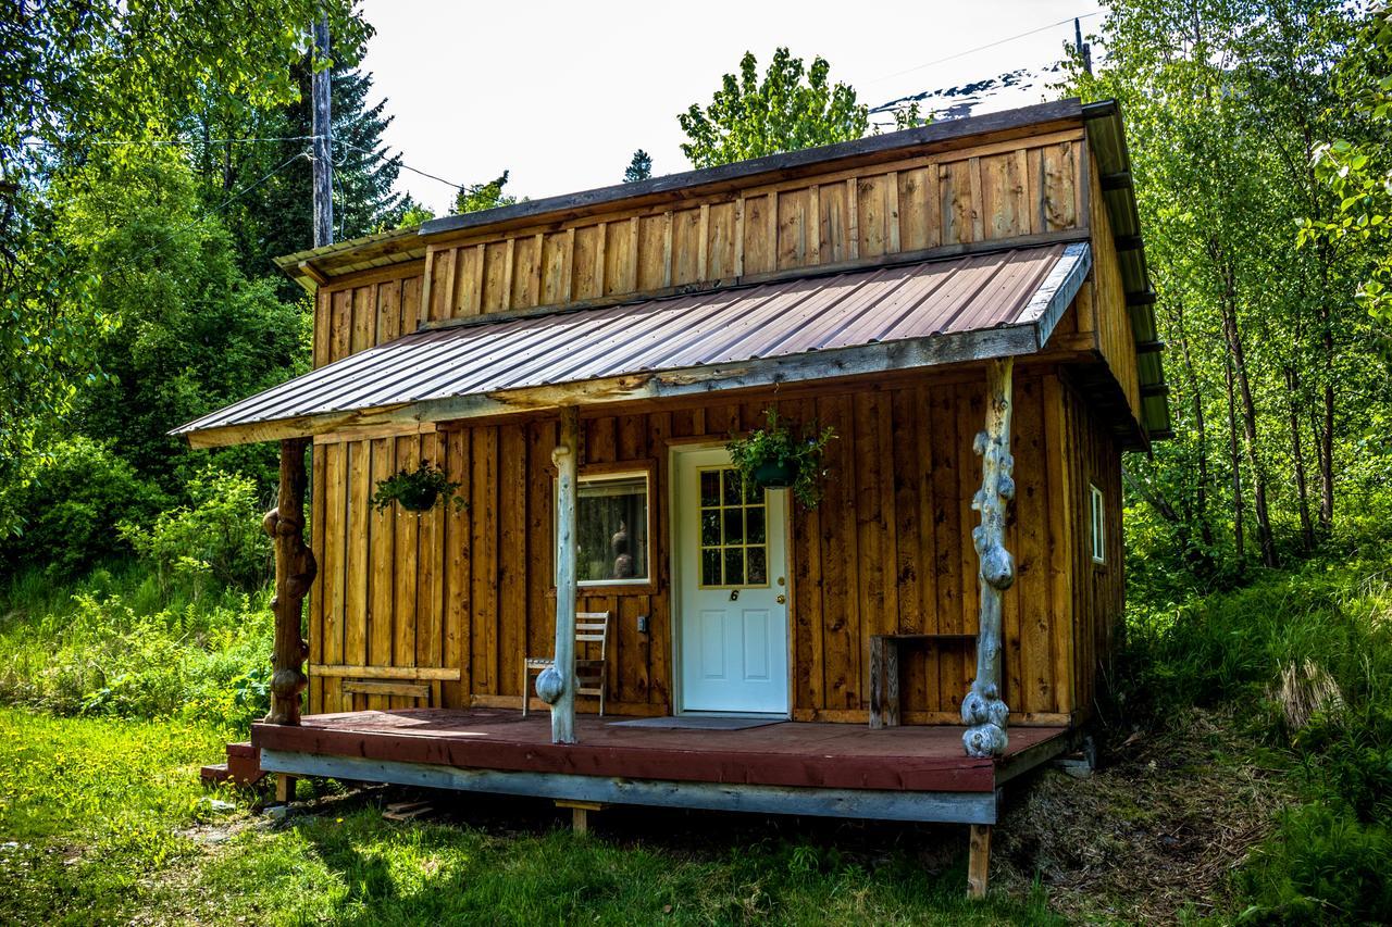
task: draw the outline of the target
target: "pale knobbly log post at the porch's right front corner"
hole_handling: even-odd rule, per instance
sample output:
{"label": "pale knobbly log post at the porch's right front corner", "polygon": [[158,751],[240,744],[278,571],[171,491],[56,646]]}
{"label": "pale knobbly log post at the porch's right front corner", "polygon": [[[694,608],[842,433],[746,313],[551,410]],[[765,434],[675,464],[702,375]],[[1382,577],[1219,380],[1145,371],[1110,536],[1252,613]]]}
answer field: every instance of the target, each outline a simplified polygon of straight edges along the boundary
{"label": "pale knobbly log post at the porch's right front corner", "polygon": [[981,489],[972,508],[981,523],[972,529],[981,580],[981,610],[976,639],[976,681],[962,699],[962,743],[967,756],[992,757],[1005,753],[1005,725],[1011,710],[1001,700],[1001,607],[1004,593],[1015,582],[1015,558],[1005,550],[1005,507],[1015,498],[1011,472],[1011,373],[1013,360],[987,365],[986,430],[977,433],[974,450],[981,455]]}

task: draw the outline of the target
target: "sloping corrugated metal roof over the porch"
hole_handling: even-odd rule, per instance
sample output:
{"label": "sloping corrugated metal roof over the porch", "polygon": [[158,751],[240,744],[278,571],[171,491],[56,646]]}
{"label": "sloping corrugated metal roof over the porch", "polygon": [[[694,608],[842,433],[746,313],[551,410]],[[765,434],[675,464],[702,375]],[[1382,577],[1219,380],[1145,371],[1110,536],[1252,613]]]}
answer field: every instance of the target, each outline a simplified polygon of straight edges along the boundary
{"label": "sloping corrugated metal roof over the porch", "polygon": [[[351,355],[174,434],[791,358],[827,360],[805,379],[837,376],[862,370],[842,356],[846,349],[874,345],[895,349],[891,366],[1025,354],[1044,345],[1090,266],[1087,244],[1075,242],[600,309],[484,316]],[[972,338],[1004,333],[1012,337]],[[768,381],[789,379],[782,370]]]}

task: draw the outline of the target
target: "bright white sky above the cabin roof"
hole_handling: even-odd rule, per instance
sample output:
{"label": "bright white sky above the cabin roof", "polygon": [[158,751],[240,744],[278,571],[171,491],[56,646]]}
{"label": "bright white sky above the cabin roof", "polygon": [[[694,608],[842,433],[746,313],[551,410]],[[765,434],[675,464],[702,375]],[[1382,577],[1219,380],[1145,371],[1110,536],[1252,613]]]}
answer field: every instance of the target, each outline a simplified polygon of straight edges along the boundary
{"label": "bright white sky above the cabin roof", "polygon": [[[820,54],[831,79],[876,106],[906,93],[1041,68],[1062,57],[1073,24],[958,56],[1061,19],[1096,14],[1098,0],[973,3],[696,4],[608,0],[365,0],[377,29],[365,68],[395,121],[386,142],[411,167],[455,184],[509,170],[508,192],[550,196],[622,180],[633,149],[654,174],[690,166],[677,114],[709,103],[746,50],[760,72],[773,50]],[[1083,19],[1084,35],[1101,18]],[[1045,99],[1029,90],[991,97],[977,111]],[[454,191],[404,170],[398,188],[444,214]]]}

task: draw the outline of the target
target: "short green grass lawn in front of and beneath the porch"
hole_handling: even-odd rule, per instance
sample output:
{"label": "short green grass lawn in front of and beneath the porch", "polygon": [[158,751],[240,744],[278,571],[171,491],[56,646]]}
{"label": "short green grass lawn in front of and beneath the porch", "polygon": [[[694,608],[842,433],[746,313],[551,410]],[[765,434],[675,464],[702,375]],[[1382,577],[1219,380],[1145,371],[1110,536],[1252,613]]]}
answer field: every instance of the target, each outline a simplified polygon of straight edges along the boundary
{"label": "short green grass lawn in front of and beneath the porch", "polygon": [[[0,912],[21,923],[1057,920],[1041,892],[969,902],[965,828],[615,810],[576,838],[543,802],[444,799],[437,820],[390,823],[374,795],[277,824],[198,784],[224,740],[214,728],[0,708]],[[237,809],[214,811],[210,798]]]}

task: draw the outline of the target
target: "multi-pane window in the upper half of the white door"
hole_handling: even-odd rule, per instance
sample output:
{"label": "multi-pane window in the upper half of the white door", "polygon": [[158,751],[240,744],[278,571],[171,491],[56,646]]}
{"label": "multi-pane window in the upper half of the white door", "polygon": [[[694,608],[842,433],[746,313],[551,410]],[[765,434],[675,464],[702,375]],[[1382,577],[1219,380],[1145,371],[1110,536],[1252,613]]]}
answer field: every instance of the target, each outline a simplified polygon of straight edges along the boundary
{"label": "multi-pane window in the upper half of the white door", "polygon": [[739,470],[700,472],[700,585],[767,586],[764,490]]}

